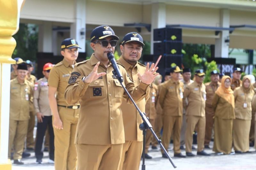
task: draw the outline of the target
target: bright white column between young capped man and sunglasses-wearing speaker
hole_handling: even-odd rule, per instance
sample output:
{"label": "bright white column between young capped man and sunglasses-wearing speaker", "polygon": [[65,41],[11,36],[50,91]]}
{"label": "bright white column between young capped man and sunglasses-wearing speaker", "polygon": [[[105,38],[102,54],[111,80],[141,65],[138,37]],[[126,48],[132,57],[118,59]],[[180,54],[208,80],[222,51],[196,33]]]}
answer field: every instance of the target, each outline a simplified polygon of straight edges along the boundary
{"label": "bright white column between young capped man and sunglasses-wearing speaker", "polygon": [[75,23],[70,26],[70,38],[76,39],[79,46],[79,52],[85,52],[85,3],[86,0],[75,0]]}

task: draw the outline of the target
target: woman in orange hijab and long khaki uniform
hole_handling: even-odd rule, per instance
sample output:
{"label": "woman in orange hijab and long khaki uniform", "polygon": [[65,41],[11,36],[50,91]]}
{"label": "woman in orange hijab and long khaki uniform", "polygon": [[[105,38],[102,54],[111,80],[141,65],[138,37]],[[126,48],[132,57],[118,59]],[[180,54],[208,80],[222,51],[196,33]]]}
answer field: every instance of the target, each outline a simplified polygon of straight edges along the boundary
{"label": "woman in orange hijab and long khaki uniform", "polygon": [[223,76],[212,100],[215,110],[213,151],[218,155],[234,154],[231,151],[235,100],[230,85],[231,78]]}

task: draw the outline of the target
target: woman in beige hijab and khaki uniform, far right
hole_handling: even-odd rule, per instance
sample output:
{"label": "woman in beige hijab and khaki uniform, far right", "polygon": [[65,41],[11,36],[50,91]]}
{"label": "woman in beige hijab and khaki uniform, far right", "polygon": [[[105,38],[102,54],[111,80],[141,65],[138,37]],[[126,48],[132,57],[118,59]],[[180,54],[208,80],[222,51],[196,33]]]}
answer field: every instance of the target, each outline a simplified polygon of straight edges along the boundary
{"label": "woman in beige hijab and khaki uniform, far right", "polygon": [[235,115],[233,144],[236,153],[249,151],[249,134],[252,120],[252,99],[254,90],[251,78],[244,76],[242,86],[234,91]]}

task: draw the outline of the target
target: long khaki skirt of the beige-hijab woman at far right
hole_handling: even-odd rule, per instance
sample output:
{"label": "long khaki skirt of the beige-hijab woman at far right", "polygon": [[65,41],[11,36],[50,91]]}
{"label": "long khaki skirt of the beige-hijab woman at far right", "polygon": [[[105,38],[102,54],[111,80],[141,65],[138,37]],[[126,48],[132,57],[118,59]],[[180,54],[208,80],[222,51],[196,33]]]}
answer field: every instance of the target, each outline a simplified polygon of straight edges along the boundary
{"label": "long khaki skirt of the beige-hijab woman at far right", "polygon": [[249,151],[249,134],[251,120],[234,119],[233,122],[233,145],[235,151]]}

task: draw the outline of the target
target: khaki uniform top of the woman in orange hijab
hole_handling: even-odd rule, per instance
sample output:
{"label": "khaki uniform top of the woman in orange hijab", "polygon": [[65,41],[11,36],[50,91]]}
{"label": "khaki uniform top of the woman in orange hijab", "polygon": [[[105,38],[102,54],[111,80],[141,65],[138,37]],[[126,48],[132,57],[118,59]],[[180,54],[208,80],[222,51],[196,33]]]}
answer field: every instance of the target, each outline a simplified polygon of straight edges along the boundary
{"label": "khaki uniform top of the woman in orange hijab", "polygon": [[215,117],[219,117],[221,119],[235,119],[234,107],[216,93],[212,99],[212,107],[215,111]]}

